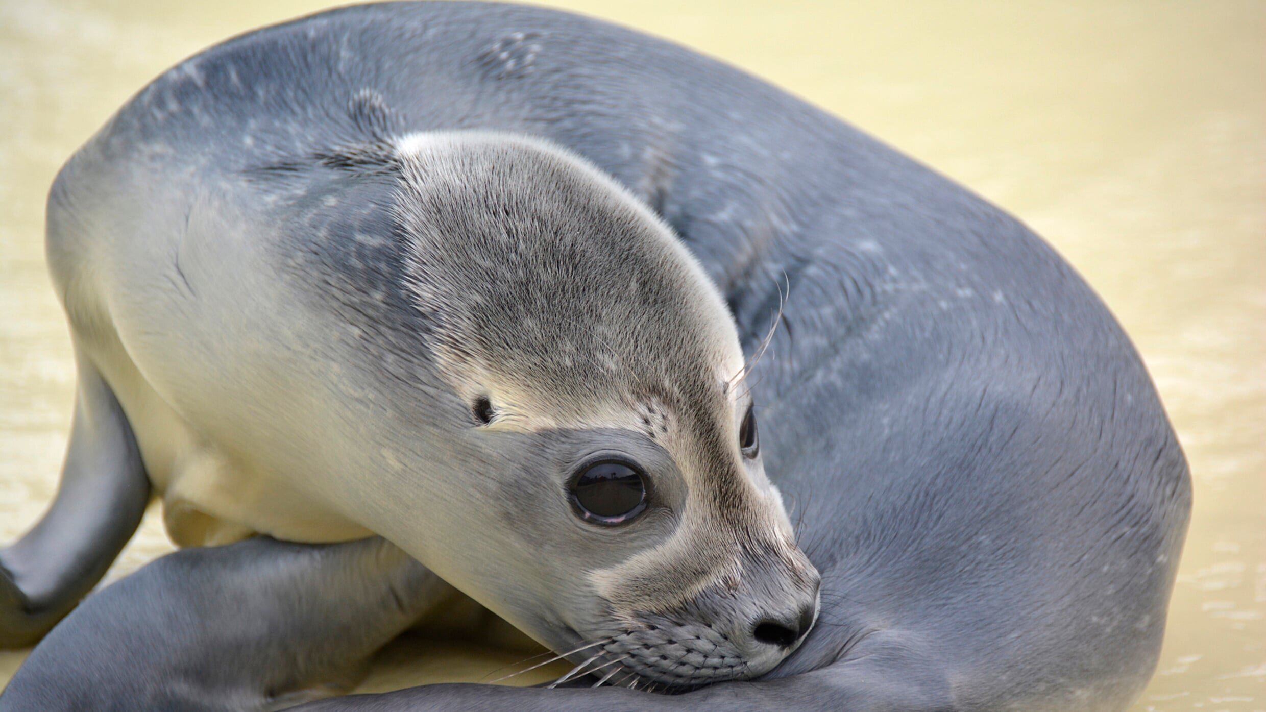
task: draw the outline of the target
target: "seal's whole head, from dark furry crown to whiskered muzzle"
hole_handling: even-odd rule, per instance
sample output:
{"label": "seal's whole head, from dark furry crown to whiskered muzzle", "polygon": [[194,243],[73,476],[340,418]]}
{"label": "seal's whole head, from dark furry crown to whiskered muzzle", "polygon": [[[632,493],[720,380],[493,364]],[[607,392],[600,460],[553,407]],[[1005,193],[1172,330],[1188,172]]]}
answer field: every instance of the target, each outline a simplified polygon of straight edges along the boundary
{"label": "seal's whole head, from dark furry crown to whiskered muzzle", "polygon": [[396,148],[411,299],[463,405],[419,426],[444,433],[430,440],[432,466],[452,469],[446,523],[398,544],[575,649],[581,671],[667,685],[768,671],[812,627],[819,576],[765,476],[737,332],[700,266],[552,144],[448,133]]}

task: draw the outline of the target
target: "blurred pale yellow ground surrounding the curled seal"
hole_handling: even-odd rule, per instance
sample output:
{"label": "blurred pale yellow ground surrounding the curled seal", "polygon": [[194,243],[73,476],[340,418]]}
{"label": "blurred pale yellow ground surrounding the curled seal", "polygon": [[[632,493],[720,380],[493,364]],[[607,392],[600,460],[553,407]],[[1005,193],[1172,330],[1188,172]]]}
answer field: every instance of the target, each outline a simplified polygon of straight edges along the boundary
{"label": "blurred pale yellow ground surrounding the curled seal", "polygon": [[[1266,3],[552,5],[743,67],[1053,243],[1133,337],[1195,480],[1165,650],[1134,709],[1266,709]],[[168,66],[323,6],[0,0],[0,542],[52,498],[70,427],[75,366],[43,265],[57,168]],[[109,579],[170,549],[151,512]],[[0,652],[0,684],[24,655]],[[363,689],[522,658],[414,639]]]}

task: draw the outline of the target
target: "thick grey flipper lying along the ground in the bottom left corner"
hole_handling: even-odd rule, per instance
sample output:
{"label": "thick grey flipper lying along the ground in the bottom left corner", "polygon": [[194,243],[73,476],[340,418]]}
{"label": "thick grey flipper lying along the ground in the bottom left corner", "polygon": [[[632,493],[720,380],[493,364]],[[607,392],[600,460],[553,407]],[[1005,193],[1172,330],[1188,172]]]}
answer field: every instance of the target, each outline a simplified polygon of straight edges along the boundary
{"label": "thick grey flipper lying along the ground in the bottom left corner", "polygon": [[85,599],[0,709],[292,707],[347,692],[370,655],[452,594],[377,537],[185,549]]}

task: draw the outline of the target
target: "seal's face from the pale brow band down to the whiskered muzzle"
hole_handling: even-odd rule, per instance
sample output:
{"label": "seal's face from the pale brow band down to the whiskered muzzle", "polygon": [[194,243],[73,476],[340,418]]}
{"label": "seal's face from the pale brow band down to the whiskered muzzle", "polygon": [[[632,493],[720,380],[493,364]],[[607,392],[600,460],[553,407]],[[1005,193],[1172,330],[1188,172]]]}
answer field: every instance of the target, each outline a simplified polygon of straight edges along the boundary
{"label": "seal's face from the pale brow band down to the whiskered muzzle", "polygon": [[582,673],[668,685],[749,678],[815,620],[818,573],[765,476],[751,397],[720,379],[710,394],[691,391],[630,407],[628,422],[532,433],[498,429],[492,400],[481,426],[490,447],[522,462],[496,498],[534,552],[506,564],[534,588],[514,620],[576,650]]}

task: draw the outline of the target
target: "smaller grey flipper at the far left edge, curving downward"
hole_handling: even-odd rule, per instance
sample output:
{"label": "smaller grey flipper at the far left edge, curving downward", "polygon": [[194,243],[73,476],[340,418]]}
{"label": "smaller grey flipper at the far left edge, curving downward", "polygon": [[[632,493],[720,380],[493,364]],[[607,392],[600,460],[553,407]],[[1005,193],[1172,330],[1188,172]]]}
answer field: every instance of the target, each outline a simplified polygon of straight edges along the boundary
{"label": "smaller grey flipper at the far left edge, curving downward", "polygon": [[0,649],[32,645],[87,594],[132,538],[149,480],[110,386],[80,355],[66,465],[53,504],[0,549]]}

